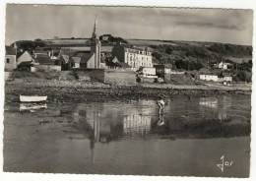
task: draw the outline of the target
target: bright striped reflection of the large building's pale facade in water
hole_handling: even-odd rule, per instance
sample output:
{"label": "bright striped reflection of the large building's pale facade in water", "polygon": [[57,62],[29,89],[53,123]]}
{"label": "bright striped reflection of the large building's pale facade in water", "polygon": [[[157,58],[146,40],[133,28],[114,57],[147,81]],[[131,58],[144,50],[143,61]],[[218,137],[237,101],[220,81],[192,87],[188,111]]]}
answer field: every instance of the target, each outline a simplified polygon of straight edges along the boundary
{"label": "bright striped reflection of the large building's pale facade in water", "polygon": [[151,116],[132,114],[123,118],[125,135],[146,135],[151,130]]}

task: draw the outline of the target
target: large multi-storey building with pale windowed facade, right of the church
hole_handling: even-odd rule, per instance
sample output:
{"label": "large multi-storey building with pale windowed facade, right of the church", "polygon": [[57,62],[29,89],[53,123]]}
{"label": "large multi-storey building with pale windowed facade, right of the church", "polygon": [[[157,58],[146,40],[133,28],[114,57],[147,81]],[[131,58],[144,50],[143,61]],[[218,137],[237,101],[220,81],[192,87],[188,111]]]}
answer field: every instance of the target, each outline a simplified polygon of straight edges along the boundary
{"label": "large multi-storey building with pale windowed facade, right of the church", "polygon": [[140,67],[153,67],[152,52],[147,48],[128,47],[119,43],[113,47],[112,55],[119,62],[128,64],[133,70],[138,70]]}

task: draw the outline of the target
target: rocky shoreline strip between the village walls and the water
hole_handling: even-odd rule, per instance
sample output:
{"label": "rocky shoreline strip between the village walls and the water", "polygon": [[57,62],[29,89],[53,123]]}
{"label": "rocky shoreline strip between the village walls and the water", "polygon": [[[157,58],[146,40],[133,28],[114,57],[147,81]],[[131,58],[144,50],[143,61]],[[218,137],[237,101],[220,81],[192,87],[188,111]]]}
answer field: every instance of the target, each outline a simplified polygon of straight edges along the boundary
{"label": "rocky shoreline strip between the village walls and the water", "polygon": [[23,80],[5,83],[6,101],[18,101],[20,94],[48,95],[51,100],[79,101],[103,99],[157,99],[183,94],[208,96],[219,94],[251,94],[248,88],[209,87],[190,85],[141,84],[136,86],[110,86],[97,82]]}

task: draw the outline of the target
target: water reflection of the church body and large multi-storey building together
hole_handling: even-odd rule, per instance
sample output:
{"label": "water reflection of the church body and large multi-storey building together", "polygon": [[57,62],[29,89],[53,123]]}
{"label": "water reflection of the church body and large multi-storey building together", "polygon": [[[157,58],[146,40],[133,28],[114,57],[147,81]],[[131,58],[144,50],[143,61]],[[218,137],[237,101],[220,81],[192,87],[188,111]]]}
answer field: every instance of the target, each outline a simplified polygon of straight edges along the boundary
{"label": "water reflection of the church body and large multi-storey building together", "polygon": [[107,103],[78,104],[73,112],[74,122],[94,143],[108,143],[124,135],[141,136],[151,130],[151,103],[140,101],[123,108]]}

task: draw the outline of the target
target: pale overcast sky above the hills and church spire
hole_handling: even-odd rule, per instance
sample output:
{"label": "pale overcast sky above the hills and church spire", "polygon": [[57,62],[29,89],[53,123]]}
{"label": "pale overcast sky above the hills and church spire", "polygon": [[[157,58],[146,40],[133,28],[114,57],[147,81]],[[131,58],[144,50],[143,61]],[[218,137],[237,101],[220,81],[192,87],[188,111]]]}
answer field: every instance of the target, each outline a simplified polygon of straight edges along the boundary
{"label": "pale overcast sky above the hills and church spire", "polygon": [[251,10],[7,5],[6,44],[16,40],[91,37],[216,41],[252,44]]}

